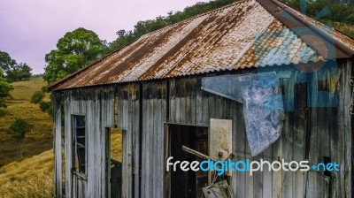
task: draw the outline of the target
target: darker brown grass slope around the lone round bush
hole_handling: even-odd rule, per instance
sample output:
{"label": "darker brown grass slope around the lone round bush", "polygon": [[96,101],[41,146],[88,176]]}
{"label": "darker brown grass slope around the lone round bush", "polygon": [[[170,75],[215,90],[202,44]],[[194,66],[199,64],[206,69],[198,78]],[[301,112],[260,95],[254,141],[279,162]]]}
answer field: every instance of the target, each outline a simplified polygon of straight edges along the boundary
{"label": "darker brown grass slope around the lone round bush", "polygon": [[[0,167],[24,157],[34,156],[52,148],[52,120],[37,104],[29,102],[8,102],[0,116]],[[15,141],[6,133],[16,118],[26,119],[33,127],[22,142]]]}

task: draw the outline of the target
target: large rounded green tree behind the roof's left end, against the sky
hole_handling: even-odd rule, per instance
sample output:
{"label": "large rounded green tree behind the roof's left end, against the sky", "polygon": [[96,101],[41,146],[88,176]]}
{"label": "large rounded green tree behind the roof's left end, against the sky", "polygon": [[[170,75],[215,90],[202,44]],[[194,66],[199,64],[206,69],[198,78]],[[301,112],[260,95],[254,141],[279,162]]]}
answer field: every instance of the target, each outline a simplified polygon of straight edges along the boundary
{"label": "large rounded green tree behind the roof's left end, against the sky", "polygon": [[63,79],[101,57],[107,50],[105,41],[85,28],[68,32],[57,43],[57,50],[45,56],[43,79],[48,83]]}

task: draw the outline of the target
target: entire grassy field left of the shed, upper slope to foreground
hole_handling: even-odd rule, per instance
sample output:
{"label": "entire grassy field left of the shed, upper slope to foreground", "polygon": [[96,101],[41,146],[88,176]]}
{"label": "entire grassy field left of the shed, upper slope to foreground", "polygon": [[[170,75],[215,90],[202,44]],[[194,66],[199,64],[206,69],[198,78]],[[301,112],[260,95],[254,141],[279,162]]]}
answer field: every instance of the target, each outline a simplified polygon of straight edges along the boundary
{"label": "entire grassy field left of the shed, upper slope to foreground", "polygon": [[[34,78],[12,85],[12,99],[0,112],[0,197],[52,197],[53,124],[38,104],[29,102],[46,83]],[[15,118],[26,119],[33,126],[23,141],[6,133]]]}

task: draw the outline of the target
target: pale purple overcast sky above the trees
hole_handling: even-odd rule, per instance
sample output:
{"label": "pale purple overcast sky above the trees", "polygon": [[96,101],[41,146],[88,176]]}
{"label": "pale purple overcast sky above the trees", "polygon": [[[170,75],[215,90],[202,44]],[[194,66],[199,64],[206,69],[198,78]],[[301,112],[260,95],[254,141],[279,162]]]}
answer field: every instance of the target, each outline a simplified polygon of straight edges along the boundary
{"label": "pale purple overcast sky above the trees", "polygon": [[58,39],[78,27],[93,30],[112,42],[119,29],[131,30],[143,19],[182,11],[209,0],[2,0],[0,50],[33,73],[44,72],[44,56],[56,49]]}

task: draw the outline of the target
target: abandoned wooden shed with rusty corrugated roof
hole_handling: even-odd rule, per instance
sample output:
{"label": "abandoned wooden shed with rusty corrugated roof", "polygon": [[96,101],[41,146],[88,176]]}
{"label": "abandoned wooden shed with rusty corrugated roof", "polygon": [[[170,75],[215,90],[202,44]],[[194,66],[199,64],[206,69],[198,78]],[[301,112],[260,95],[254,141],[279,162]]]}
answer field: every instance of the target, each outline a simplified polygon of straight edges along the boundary
{"label": "abandoned wooden shed with rusty corrugated roof", "polygon": [[[339,164],[225,172],[224,197],[351,197],[353,55],[349,37],[275,0],[145,34],[50,85],[56,194],[217,197],[205,191],[211,172],[166,171],[170,156],[205,155]],[[113,128],[121,162],[110,156]]]}

